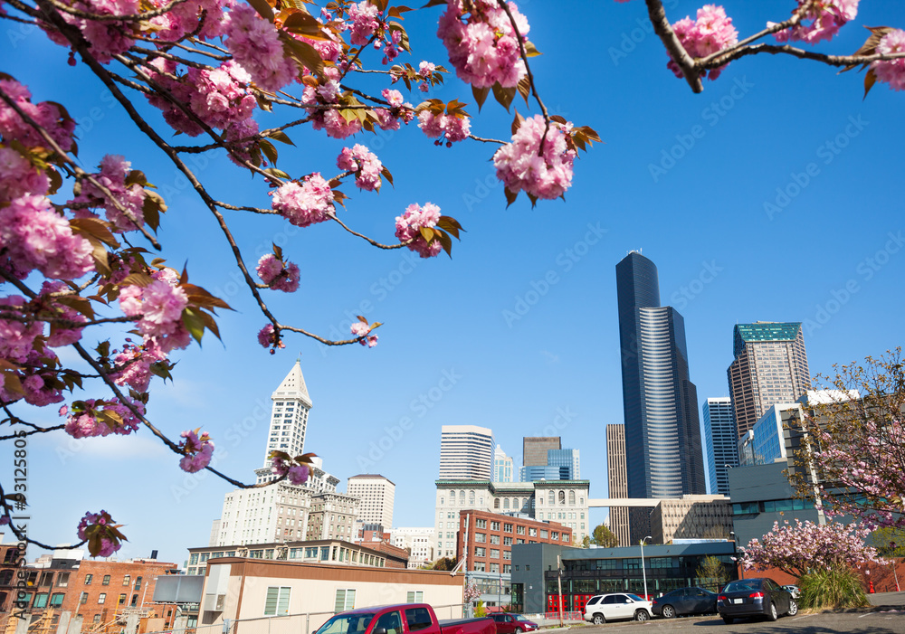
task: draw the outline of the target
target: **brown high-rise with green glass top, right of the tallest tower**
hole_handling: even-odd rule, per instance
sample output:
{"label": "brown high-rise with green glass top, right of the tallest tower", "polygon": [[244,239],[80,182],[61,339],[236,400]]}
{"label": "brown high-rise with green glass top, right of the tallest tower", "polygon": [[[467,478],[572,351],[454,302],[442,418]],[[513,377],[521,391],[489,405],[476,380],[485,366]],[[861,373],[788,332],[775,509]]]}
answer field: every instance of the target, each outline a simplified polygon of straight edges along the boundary
{"label": "brown high-rise with green glass top, right of the tallest tower", "polygon": [[729,396],[737,439],[752,429],[767,408],[795,402],[811,387],[805,336],[799,322],[736,324],[729,365]]}

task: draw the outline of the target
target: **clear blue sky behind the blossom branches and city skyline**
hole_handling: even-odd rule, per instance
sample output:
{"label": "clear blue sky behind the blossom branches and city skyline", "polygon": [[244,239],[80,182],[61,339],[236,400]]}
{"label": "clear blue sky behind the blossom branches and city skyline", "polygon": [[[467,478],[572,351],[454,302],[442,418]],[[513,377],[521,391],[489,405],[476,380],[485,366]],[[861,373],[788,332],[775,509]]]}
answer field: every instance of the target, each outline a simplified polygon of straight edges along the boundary
{"label": "clear blue sky behind the blossom branches and city skyline", "polygon": [[[735,1],[726,8],[748,34],[793,5]],[[878,85],[864,100],[855,71],[836,76],[814,62],[766,56],[733,62],[694,95],[641,26],[642,2],[520,6],[544,53],[532,69],[548,108],[605,141],[576,162],[566,201],[532,209],[522,196],[506,209],[488,145],[434,147],[412,126],[359,135],[355,142],[393,172],[395,189],[376,195],[345,187],[352,199],[342,217],[350,226],[394,241],[395,216],[409,203],[430,201],[467,232],[452,260],[418,260],[407,251],[377,251],[327,223],[292,231],[275,218],[234,214],[229,220],[247,261],[281,241],[300,265],[297,293],[267,296],[285,321],[343,337],[357,314],[386,324],[374,349],[327,349],[291,337],[276,355],[257,345],[263,319],[231,277],[213,218],[174,168],[110,108],[98,80],[66,65],[66,51],[41,33],[3,24],[0,70],[29,83],[36,99],[67,106],[80,121],[85,166],[114,153],[146,172],[169,204],[160,232],[165,257],[177,268],[187,262],[193,282],[236,309],[220,320],[222,345],[205,338],[203,348],[176,355],[174,383],[154,384],[148,413],[161,429],[178,436],[203,426],[220,448],[217,468],[252,481],[264,457],[270,393],[302,355],[314,402],[306,449],[323,457],[343,487],[365,470],[392,479],[395,524],[431,525],[443,424],[490,427],[517,464],[523,436],[556,430],[564,447],[581,449],[591,497],[605,497],[604,425],[623,421],[614,266],[629,250],[643,249],[657,264],[663,302],[685,317],[700,402],[728,395],[739,322],[805,322],[813,374],[901,343],[903,95]],[[666,6],[674,22],[699,5]],[[433,36],[437,12],[406,14],[414,65],[448,65]],[[862,24],[903,25],[905,8],[864,0],[856,24],[820,50],[854,52],[866,38]],[[452,77],[434,96],[473,101]],[[162,125],[157,111],[136,100]],[[524,102],[517,108],[526,112]],[[467,109],[478,115],[473,103]],[[507,137],[511,118],[488,102],[472,131]],[[298,128],[291,137],[297,147],[280,147],[279,166],[294,176],[332,173],[341,147],[351,145]],[[221,199],[267,204],[261,179],[223,156],[198,168]],[[454,384],[443,391],[450,376]],[[429,407],[419,405],[422,397]],[[51,410],[29,413],[57,423]],[[399,436],[395,427],[405,418],[412,429]],[[379,449],[385,437],[391,446]],[[382,455],[370,453],[374,447]],[[30,440],[29,450],[30,532],[51,544],[74,539],[86,510],[106,508],[129,536],[120,554],[158,549],[161,558],[182,562],[186,547],[207,544],[230,489],[213,476],[182,473],[177,457],[145,431],[79,442],[48,435]],[[11,456],[5,464],[8,481]],[[595,512],[592,524],[603,516]]]}

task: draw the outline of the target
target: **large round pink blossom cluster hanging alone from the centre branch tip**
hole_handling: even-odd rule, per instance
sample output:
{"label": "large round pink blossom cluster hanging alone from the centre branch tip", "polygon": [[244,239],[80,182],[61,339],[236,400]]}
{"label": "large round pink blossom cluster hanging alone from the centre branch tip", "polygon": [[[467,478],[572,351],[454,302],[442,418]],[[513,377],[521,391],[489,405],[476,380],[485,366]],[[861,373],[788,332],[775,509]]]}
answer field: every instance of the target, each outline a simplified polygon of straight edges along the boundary
{"label": "large round pink blossom cluster hanging alone from the centre branch tip", "polygon": [[526,118],[511,142],[493,155],[497,178],[511,193],[524,190],[536,198],[551,199],[561,196],[572,185],[576,151],[568,146],[566,139],[571,124],[551,122],[546,137],[545,129],[540,115]]}

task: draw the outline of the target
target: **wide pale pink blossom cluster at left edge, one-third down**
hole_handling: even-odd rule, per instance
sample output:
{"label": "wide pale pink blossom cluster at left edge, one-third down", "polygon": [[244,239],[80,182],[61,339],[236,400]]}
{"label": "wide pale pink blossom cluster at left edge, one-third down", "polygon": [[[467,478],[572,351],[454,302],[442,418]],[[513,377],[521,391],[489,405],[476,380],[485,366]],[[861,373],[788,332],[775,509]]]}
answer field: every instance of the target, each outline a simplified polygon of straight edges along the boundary
{"label": "wide pale pink blossom cluster at left edge, one-third down", "polygon": [[0,267],[48,278],[78,279],[94,268],[91,244],[72,232],[45,196],[26,194],[0,206]]}

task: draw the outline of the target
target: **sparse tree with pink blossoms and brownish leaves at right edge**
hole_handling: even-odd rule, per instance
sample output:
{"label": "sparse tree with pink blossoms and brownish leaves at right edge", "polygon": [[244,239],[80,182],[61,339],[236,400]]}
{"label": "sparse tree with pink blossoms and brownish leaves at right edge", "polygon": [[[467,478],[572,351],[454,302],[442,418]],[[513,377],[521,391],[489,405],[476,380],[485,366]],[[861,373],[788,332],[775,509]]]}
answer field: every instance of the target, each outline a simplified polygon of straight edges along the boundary
{"label": "sparse tree with pink blossoms and brownish leaves at right edge", "polygon": [[859,518],[868,527],[905,528],[901,350],[836,370],[826,385],[834,392],[801,421],[805,436],[802,449],[795,452],[793,474],[798,494],[834,515]]}

